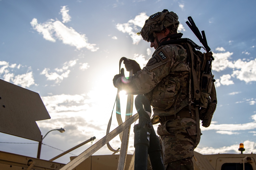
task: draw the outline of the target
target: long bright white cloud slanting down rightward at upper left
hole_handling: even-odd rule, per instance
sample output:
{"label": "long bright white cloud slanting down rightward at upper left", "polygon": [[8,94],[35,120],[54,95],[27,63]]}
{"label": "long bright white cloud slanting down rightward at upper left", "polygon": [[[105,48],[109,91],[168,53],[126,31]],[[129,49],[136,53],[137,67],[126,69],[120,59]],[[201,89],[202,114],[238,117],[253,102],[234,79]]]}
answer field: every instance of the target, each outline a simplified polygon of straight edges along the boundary
{"label": "long bright white cloud slanting down rightward at upper left", "polygon": [[[62,8],[63,9],[63,8]],[[67,20],[65,20],[66,22]],[[44,23],[38,23],[34,18],[30,22],[34,30],[43,35],[43,37],[51,42],[56,42],[56,39],[62,41],[64,44],[75,46],[77,49],[87,48],[91,51],[97,51],[99,48],[95,47],[96,44],[88,43],[85,34],[79,34],[71,27],[67,27],[62,22],[50,19]]]}

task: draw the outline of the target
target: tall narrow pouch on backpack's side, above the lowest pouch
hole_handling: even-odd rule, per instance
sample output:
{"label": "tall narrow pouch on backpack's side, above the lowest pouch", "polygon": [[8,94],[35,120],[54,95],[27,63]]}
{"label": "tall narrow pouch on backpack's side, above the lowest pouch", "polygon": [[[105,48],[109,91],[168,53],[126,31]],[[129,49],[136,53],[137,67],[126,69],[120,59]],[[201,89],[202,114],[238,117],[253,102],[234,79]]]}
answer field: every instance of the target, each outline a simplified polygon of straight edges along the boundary
{"label": "tall narrow pouch on backpack's side, above the lowest pouch", "polygon": [[201,97],[199,100],[199,107],[207,108],[209,96],[211,94],[213,75],[203,73],[201,77]]}

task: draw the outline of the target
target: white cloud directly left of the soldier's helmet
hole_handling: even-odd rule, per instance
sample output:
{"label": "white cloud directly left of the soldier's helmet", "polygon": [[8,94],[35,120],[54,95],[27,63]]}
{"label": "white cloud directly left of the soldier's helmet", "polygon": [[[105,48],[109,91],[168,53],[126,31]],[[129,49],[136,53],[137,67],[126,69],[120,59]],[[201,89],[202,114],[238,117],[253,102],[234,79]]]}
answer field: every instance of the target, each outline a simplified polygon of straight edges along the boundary
{"label": "white cloud directly left of the soldier's helmet", "polygon": [[142,29],[145,20],[147,19],[148,16],[145,14],[145,12],[142,12],[135,16],[134,19],[129,20],[127,23],[116,24],[116,28],[123,33],[128,33],[133,40],[133,44],[138,44],[142,40],[142,37],[138,36],[136,33]]}

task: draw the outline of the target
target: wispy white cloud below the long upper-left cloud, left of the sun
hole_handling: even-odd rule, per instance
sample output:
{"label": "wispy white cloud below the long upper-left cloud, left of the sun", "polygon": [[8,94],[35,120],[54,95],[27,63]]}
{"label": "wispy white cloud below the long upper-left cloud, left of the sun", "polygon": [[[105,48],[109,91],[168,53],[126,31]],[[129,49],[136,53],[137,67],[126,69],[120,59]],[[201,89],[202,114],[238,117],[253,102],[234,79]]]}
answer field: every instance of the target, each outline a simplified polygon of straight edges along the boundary
{"label": "wispy white cloud below the long upper-left cloud, left of the sun", "polygon": [[[45,68],[40,74],[45,75],[47,77],[47,80],[53,80],[56,84],[61,83],[64,78],[67,78],[70,70],[69,67],[73,67],[76,65],[78,59],[76,60],[70,60],[63,64],[62,68],[56,68],[54,69],[57,72],[50,72],[49,68]],[[65,71],[65,72],[64,72]]]}

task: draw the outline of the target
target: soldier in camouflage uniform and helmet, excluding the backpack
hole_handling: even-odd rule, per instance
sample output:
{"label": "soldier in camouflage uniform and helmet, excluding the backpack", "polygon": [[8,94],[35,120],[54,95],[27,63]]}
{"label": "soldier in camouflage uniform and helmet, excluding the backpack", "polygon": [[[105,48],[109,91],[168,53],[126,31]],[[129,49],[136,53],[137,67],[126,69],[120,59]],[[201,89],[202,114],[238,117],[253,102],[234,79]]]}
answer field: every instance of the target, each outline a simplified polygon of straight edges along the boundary
{"label": "soldier in camouflage uniform and helmet, excluding the backpack", "polygon": [[199,143],[197,133],[200,134],[195,106],[188,106],[188,51],[181,43],[160,45],[177,35],[178,25],[178,16],[166,9],[150,16],[140,34],[155,48],[152,58],[143,69],[134,60],[124,61],[126,70],[132,69],[134,75],[124,77],[121,70],[113,79],[116,88],[127,94],[144,94],[150,101],[152,123],[160,123],[157,134],[161,137],[166,170],[194,169],[192,157]]}

